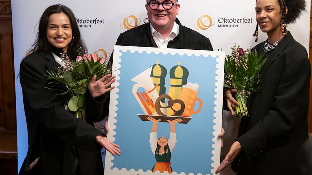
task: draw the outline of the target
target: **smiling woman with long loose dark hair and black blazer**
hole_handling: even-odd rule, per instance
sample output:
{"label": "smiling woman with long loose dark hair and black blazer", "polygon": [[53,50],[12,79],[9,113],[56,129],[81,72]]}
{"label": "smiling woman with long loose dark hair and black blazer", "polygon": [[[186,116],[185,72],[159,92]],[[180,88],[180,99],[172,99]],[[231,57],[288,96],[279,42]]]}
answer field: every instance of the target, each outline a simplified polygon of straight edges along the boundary
{"label": "smiling woman with long loose dark hair and black blazer", "polygon": [[115,76],[89,83],[85,122],[65,109],[57,92],[47,87],[46,70],[56,71],[61,54],[74,60],[86,47],[73,12],[61,4],[48,7],[39,22],[37,39],[22,60],[20,81],[28,130],[28,152],[20,173],[103,175],[101,148],[120,155],[118,145],[94,128],[108,113],[108,95]]}

